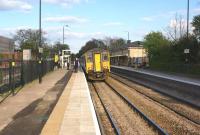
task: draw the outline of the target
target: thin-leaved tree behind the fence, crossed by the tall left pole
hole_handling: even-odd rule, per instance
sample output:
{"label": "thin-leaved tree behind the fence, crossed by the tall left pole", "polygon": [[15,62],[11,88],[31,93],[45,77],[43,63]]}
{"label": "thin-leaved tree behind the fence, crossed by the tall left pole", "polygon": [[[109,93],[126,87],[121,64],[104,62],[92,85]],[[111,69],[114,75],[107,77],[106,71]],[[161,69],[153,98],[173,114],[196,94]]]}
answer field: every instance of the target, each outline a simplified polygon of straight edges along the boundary
{"label": "thin-leaved tree behind the fence, crossed by the tall left pole", "polygon": [[[42,32],[42,45],[45,44],[44,32]],[[36,53],[39,45],[39,31],[33,29],[21,29],[14,35],[14,41],[21,49],[31,49]]]}

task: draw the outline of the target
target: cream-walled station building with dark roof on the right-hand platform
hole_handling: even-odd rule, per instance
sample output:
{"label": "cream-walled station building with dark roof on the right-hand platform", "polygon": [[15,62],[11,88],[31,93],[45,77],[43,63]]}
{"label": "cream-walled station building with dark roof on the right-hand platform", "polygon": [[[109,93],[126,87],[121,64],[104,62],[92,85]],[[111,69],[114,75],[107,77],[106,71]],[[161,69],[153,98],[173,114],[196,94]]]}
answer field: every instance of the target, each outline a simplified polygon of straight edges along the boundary
{"label": "cream-walled station building with dark roof on the right-hand platform", "polygon": [[118,66],[148,66],[148,54],[140,41],[124,45],[123,48],[110,52],[111,64]]}

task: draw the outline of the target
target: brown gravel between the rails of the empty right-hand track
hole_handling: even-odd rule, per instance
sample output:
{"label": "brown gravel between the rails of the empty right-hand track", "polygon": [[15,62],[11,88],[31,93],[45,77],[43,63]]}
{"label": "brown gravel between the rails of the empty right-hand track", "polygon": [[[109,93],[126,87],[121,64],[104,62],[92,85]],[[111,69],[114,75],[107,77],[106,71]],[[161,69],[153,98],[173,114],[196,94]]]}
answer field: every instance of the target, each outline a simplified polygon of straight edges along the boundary
{"label": "brown gravel between the rails of the empty right-hand track", "polygon": [[186,117],[190,121],[200,125],[200,110],[199,109],[191,107],[191,106],[189,106],[185,103],[182,103],[181,101],[178,101],[169,96],[160,94],[156,91],[153,91],[152,89],[145,88],[141,85],[135,84],[127,79],[118,77],[116,75],[112,75],[112,77],[116,80],[119,80],[120,82],[125,83],[127,86],[133,88],[134,91],[136,90],[139,93],[144,94],[145,96],[166,106],[167,108],[173,110],[174,112],[178,113],[179,115],[182,115],[183,117]]}

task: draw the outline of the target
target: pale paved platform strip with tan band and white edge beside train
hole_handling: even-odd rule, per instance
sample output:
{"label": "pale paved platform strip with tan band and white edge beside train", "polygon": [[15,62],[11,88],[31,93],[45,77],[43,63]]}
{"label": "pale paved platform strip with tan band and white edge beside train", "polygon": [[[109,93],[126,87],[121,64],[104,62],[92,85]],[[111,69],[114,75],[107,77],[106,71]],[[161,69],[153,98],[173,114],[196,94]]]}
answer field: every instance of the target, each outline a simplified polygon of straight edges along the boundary
{"label": "pale paved platform strip with tan band and white edge beside train", "polygon": [[73,73],[42,135],[100,135],[84,73]]}

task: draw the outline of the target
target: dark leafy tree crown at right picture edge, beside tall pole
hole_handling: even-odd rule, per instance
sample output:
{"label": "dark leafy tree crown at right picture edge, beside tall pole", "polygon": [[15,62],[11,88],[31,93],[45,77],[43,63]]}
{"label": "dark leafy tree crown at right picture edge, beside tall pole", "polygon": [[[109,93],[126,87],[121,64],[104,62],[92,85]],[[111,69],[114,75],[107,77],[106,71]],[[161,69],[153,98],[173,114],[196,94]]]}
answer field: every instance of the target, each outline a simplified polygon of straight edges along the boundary
{"label": "dark leafy tree crown at right picture edge, beside tall pole", "polygon": [[200,15],[197,15],[193,18],[192,26],[194,27],[193,32],[195,36],[200,40]]}

